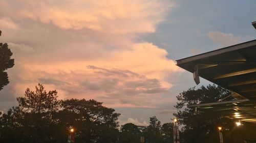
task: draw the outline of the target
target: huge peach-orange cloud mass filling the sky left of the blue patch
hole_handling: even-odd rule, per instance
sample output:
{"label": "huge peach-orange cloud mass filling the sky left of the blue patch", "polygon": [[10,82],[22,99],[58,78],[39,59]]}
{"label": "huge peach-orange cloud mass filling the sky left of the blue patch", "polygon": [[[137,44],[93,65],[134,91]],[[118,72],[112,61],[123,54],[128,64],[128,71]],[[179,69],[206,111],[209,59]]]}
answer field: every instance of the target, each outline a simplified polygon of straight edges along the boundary
{"label": "huge peach-orange cloud mass filling the sky left of the blue patch", "polygon": [[40,82],[60,99],[162,109],[163,101],[173,102],[170,89],[182,70],[165,49],[138,39],[155,32],[174,7],[165,0],[0,1],[0,19],[9,23],[0,22],[1,41],[15,59],[10,91],[0,91],[10,96],[2,97],[16,103]]}

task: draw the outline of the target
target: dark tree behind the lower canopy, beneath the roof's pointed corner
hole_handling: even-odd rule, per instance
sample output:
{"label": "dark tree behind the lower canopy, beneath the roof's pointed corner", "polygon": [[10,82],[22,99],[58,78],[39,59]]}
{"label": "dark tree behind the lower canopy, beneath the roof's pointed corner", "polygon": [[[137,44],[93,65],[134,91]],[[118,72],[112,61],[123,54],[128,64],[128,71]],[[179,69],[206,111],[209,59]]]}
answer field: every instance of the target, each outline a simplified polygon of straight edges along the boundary
{"label": "dark tree behind the lower canopy, beneath the roof's pointed corner", "polygon": [[[179,102],[175,107],[181,110],[174,113],[174,116],[179,119],[179,124],[183,125],[180,137],[182,142],[219,142],[217,127],[220,125],[225,129],[223,130],[224,142],[239,142],[236,138],[241,134],[239,135],[234,131],[236,126],[231,120],[223,118],[214,112],[195,111],[195,109],[186,107],[186,105],[191,104],[218,102],[229,95],[230,92],[228,90],[215,84],[207,87],[202,86],[199,89],[190,88],[180,93],[177,96]],[[226,100],[233,100],[233,98],[229,97]],[[246,125],[243,128],[247,128]],[[247,129],[249,130],[249,128]]]}

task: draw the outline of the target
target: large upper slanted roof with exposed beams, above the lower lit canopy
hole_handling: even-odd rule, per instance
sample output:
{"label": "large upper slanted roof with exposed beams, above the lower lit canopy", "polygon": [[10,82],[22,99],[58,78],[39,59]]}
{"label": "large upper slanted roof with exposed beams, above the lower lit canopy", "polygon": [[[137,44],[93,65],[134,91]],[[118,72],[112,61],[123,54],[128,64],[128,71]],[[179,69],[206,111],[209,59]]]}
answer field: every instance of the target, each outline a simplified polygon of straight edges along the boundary
{"label": "large upper slanted roof with exposed beams, above the lower lit canopy", "polygon": [[256,40],[177,60],[177,66],[198,74],[246,99],[256,100]]}

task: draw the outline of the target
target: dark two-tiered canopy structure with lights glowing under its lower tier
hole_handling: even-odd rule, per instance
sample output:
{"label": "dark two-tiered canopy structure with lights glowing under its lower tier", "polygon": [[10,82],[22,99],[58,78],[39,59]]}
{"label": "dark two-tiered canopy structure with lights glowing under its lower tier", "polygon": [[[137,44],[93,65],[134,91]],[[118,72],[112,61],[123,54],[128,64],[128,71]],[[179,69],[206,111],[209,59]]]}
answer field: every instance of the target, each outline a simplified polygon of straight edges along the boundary
{"label": "dark two-tiered canopy structure with lights glowing under its lower tier", "polygon": [[232,91],[236,101],[189,105],[256,124],[256,40],[177,60],[177,66]]}

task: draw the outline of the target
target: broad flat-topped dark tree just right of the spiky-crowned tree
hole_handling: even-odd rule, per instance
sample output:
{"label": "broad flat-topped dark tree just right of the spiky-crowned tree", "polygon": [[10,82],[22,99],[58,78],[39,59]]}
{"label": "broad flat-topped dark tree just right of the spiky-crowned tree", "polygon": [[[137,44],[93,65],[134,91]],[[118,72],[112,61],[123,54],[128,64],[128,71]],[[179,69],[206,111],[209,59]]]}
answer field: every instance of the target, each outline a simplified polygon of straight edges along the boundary
{"label": "broad flat-topped dark tree just right of the spiky-crowned tree", "polygon": [[68,99],[61,101],[61,108],[55,118],[60,126],[76,128],[76,142],[111,142],[116,139],[120,114],[102,106],[102,102]]}

